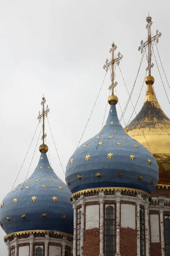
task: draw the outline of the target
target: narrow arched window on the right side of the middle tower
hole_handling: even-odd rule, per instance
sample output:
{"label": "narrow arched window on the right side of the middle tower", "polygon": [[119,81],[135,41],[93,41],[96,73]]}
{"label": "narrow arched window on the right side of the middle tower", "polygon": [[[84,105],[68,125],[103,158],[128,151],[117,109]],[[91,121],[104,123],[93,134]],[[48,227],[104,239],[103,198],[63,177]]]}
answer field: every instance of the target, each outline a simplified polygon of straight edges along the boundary
{"label": "narrow arched window on the right side of the middle tower", "polygon": [[140,208],[140,254],[145,256],[144,209]]}

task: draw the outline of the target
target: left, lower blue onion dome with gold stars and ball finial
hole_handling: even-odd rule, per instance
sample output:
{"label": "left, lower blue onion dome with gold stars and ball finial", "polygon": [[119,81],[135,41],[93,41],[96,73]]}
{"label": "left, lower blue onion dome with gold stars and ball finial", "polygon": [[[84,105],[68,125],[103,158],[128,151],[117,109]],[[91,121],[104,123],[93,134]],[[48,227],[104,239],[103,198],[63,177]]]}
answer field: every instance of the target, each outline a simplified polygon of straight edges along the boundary
{"label": "left, lower blue onion dome with gold stars and ball finial", "polygon": [[70,191],[51,168],[40,147],[40,160],[31,177],[1,202],[0,224],[6,234],[25,230],[48,230],[73,234]]}

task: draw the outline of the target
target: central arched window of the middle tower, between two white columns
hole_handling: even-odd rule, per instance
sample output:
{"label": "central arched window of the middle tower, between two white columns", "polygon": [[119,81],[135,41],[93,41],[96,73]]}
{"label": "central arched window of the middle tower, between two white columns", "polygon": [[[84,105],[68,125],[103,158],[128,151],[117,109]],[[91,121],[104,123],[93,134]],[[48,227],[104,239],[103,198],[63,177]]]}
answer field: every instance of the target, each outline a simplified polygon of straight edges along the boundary
{"label": "central arched window of the middle tower, between two white columns", "polygon": [[105,256],[114,256],[114,207],[105,206]]}

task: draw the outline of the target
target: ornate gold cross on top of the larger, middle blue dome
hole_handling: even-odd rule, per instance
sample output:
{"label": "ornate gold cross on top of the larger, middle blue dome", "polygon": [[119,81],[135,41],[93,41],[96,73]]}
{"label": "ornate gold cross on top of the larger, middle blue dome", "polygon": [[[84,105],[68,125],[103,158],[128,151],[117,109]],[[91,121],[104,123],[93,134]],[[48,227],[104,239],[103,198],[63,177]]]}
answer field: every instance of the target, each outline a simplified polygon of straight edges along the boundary
{"label": "ornate gold cross on top of the larger, middle blue dome", "polygon": [[113,42],[112,47],[109,51],[112,54],[112,58],[111,58],[111,60],[106,59],[105,65],[103,66],[103,69],[106,70],[106,72],[108,72],[108,68],[111,66],[111,86],[109,87],[109,90],[112,90],[112,94],[114,94],[114,87],[116,87],[116,85],[117,85],[117,82],[114,82],[114,78],[115,78],[114,65],[116,65],[116,64],[119,65],[120,61],[123,58],[123,56],[120,54],[120,52],[118,52],[116,57],[114,57],[114,52],[116,51],[116,48],[117,48],[117,46]]}

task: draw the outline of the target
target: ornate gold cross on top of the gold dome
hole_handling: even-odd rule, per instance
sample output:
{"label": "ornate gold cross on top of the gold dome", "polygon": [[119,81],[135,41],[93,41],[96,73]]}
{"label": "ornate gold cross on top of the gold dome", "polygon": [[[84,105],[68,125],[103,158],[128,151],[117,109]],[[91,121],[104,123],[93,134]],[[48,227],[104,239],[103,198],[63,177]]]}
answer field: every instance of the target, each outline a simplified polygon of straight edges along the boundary
{"label": "ornate gold cross on top of the gold dome", "polygon": [[153,63],[151,63],[151,57],[152,57],[152,52],[151,52],[151,44],[153,41],[156,41],[156,43],[158,44],[159,42],[159,38],[161,37],[161,33],[156,30],[156,35],[154,35],[153,37],[151,37],[151,32],[150,32],[150,27],[152,26],[152,18],[148,15],[146,18],[147,21],[147,25],[146,25],[146,29],[147,29],[147,34],[148,34],[148,38],[146,42],[143,42],[143,40],[141,41],[141,45],[139,46],[138,50],[141,51],[141,53],[143,52],[144,47],[148,46],[148,56],[147,56],[147,62],[148,62],[148,66],[146,68],[146,70],[149,70],[149,76],[151,74],[151,68],[153,67]]}

